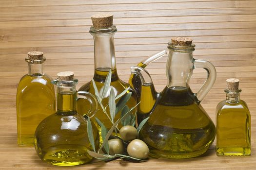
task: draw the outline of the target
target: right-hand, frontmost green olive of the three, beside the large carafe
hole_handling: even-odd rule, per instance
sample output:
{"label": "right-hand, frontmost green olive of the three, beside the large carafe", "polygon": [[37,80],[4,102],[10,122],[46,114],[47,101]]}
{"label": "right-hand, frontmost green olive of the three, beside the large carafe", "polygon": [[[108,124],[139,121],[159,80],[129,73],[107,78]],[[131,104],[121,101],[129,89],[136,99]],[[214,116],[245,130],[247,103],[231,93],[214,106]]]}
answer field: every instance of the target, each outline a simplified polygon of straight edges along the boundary
{"label": "right-hand, frontmost green olive of the three, beside the large carafe", "polygon": [[134,139],[129,143],[127,153],[137,159],[146,159],[149,154],[149,149],[145,142],[139,139]]}

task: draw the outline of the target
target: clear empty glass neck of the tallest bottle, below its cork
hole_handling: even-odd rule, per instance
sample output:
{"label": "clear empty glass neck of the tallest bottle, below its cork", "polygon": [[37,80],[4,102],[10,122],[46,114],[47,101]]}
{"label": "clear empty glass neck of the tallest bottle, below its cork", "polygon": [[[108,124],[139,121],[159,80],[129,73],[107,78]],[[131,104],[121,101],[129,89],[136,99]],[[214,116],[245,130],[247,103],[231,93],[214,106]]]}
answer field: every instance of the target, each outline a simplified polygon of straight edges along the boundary
{"label": "clear empty glass neck of the tallest bottle, below its cork", "polygon": [[[91,29],[92,30],[92,29]],[[114,45],[114,32],[99,33],[92,32],[94,38],[95,69],[109,70],[116,69],[116,55]]]}

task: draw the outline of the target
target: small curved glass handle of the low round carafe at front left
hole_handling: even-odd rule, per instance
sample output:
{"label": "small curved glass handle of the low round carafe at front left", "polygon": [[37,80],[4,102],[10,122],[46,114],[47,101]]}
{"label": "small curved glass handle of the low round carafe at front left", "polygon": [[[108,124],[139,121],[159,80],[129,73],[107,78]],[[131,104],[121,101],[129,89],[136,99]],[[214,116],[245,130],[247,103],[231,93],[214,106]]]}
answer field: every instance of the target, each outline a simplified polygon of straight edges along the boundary
{"label": "small curved glass handle of the low round carafe at front left", "polygon": [[83,114],[83,116],[86,115],[90,118],[94,117],[94,115],[96,114],[96,112],[98,110],[98,102],[97,102],[96,98],[91,93],[89,93],[87,91],[78,91],[77,92],[77,101],[80,98],[86,99],[91,104],[90,110],[86,114]]}

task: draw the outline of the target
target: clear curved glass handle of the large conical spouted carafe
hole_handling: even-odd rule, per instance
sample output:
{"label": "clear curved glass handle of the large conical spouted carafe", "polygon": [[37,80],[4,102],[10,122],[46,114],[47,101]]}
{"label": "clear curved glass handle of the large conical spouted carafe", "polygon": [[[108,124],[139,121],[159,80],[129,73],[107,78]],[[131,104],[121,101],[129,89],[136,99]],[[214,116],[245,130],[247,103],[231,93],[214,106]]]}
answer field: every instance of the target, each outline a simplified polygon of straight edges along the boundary
{"label": "clear curved glass handle of the large conical spouted carafe", "polygon": [[194,68],[204,68],[207,71],[207,79],[196,94],[198,101],[201,102],[214,85],[217,73],[214,65],[205,60],[195,59]]}

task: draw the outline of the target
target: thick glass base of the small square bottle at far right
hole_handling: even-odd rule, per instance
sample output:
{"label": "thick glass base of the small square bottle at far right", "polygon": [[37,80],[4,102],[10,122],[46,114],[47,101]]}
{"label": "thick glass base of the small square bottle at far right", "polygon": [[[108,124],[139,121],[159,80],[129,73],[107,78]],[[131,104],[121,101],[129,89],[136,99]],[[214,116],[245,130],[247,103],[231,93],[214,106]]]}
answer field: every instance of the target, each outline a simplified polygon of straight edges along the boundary
{"label": "thick glass base of the small square bottle at far right", "polygon": [[251,155],[251,148],[245,147],[225,147],[216,148],[218,156],[249,156]]}

